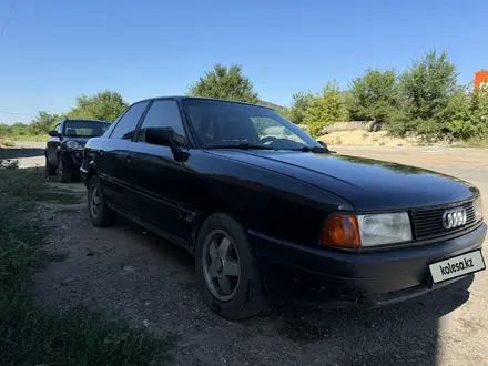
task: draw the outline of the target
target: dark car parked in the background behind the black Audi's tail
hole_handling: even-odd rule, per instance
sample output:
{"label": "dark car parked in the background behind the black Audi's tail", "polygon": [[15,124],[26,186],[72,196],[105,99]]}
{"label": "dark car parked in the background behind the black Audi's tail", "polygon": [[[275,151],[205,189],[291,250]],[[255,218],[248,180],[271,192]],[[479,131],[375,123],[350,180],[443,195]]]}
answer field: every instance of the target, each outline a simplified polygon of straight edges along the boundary
{"label": "dark car parked in the background behind the black Audi's tail", "polygon": [[61,183],[70,182],[73,174],[80,173],[87,141],[102,135],[109,125],[106,121],[62,119],[49,132],[44,151],[48,174],[58,174]]}

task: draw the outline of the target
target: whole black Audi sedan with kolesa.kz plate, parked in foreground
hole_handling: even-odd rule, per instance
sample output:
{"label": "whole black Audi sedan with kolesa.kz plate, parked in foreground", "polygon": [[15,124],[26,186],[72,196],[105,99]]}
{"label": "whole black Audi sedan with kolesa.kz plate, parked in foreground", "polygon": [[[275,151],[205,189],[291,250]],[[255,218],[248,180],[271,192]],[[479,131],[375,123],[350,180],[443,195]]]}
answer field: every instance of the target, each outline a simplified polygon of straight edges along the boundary
{"label": "whole black Audi sedan with kolesa.kz plate, parked in foreground", "polygon": [[187,250],[230,319],[271,302],[382,306],[485,270],[475,186],[335,154],[264,106],[140,101],[89,140],[81,174],[95,226],[119,213]]}

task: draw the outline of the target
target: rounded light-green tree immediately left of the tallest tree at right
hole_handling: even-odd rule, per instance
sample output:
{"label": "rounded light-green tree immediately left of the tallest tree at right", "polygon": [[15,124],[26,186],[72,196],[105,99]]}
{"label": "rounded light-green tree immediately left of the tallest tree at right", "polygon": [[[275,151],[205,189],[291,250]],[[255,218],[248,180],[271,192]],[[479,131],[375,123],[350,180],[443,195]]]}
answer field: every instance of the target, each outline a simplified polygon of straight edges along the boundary
{"label": "rounded light-green tree immediately left of the tallest tree at right", "polygon": [[398,109],[395,69],[368,69],[363,77],[353,79],[346,103],[355,121],[390,120]]}

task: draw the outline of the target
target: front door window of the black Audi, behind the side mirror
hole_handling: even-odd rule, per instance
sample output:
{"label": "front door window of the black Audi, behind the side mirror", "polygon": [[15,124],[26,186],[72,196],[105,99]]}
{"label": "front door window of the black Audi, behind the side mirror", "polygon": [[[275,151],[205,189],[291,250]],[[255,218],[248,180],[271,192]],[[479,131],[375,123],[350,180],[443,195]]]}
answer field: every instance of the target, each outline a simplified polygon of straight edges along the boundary
{"label": "front door window of the black Audi, behind the side mirror", "polygon": [[[180,115],[177,103],[173,100],[156,100],[153,102],[142,121],[141,129],[146,128],[173,128],[174,132],[181,135],[184,141],[185,130]],[[138,141],[145,141],[144,130],[138,136]]]}

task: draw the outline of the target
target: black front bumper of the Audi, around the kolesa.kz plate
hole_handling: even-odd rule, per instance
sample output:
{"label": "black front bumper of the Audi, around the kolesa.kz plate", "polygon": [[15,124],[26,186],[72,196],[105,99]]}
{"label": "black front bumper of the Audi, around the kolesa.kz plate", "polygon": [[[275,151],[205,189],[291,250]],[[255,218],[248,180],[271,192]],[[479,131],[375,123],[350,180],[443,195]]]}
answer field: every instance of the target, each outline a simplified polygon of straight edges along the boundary
{"label": "black front bumper of the Audi, around the kolesa.kz plate", "polygon": [[[434,285],[429,264],[481,247],[482,223],[462,236],[427,245],[369,253],[312,248],[250,231],[271,299],[333,307],[376,307],[449,285]],[[469,287],[470,282],[464,282]]]}

